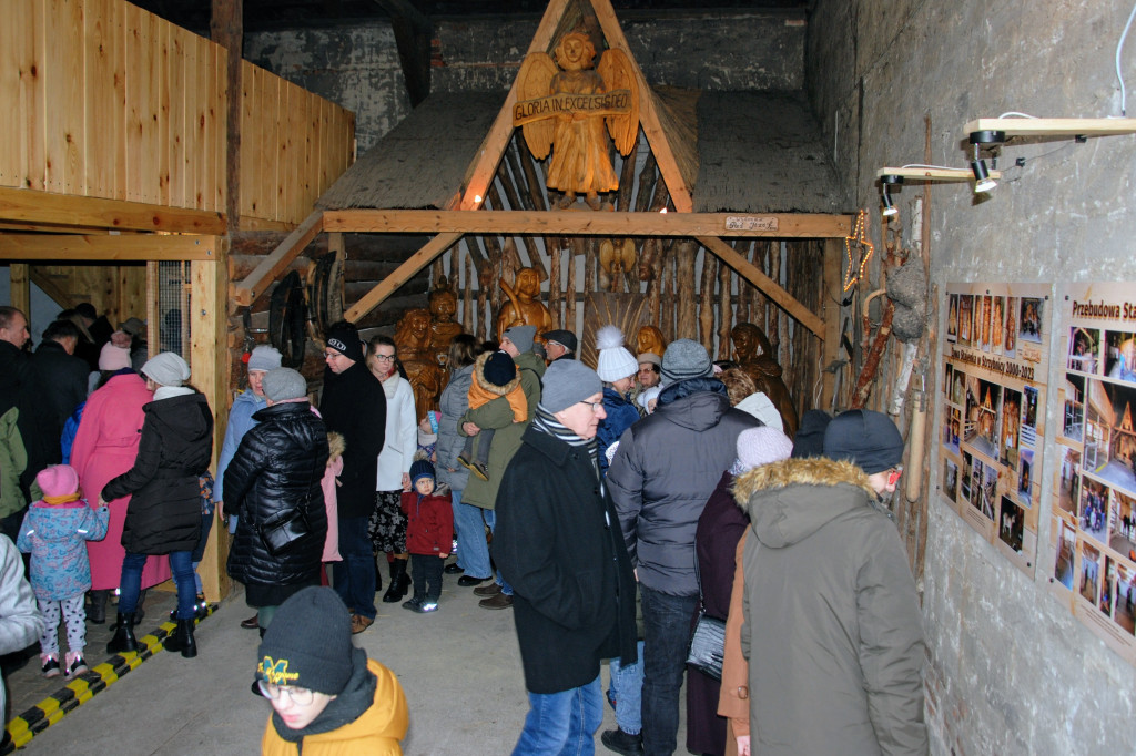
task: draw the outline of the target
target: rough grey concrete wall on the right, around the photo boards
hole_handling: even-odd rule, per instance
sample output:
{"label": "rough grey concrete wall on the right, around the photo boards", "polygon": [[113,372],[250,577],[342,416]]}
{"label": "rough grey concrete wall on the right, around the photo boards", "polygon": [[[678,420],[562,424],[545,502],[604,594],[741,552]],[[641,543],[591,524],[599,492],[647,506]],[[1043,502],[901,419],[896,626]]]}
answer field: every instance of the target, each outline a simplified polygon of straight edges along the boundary
{"label": "rough grey concrete wall on the right, around the photo boards", "polygon": [[[810,19],[808,90],[836,144],[847,196],[872,210],[874,238],[875,171],[924,161],[925,116],[933,161],[966,167],[962,127],[972,118],[1119,115],[1113,54],[1130,9],[1108,0],[820,0]],[[1124,60],[1136,84],[1131,41]],[[1024,168],[1012,167],[1016,158],[1026,158]],[[1004,148],[1000,167],[1011,168],[988,199],[975,200],[964,184],[935,186],[933,284],[942,292],[949,282],[1136,280],[1134,162],[1133,136],[1054,140]],[[908,228],[917,195],[912,184],[896,198]],[[1062,327],[1055,320],[1053,333]],[[1049,376],[1051,429],[1060,427],[1061,362],[1051,361]],[[1047,464],[1059,459],[1052,439],[1044,453]],[[941,468],[933,455],[932,492]],[[1035,579],[937,498],[930,503],[924,600],[935,754],[1133,751],[1136,673],[1047,590],[1051,489],[1052,467]]]}

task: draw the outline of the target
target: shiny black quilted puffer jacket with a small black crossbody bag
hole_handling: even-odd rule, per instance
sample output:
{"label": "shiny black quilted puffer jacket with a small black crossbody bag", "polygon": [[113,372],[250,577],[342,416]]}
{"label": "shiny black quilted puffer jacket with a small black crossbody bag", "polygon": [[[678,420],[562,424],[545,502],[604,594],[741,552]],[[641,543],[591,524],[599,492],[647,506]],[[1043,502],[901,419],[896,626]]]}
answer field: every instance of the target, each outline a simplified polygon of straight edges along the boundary
{"label": "shiny black quilted puffer jacket with a small black crossbody bag", "polygon": [[[225,509],[237,515],[228,574],[245,585],[292,585],[319,573],[327,510],[319,481],[327,465],[327,427],[307,402],[274,404],[252,415],[225,471]],[[259,535],[268,518],[307,510],[310,535],[273,556]]]}

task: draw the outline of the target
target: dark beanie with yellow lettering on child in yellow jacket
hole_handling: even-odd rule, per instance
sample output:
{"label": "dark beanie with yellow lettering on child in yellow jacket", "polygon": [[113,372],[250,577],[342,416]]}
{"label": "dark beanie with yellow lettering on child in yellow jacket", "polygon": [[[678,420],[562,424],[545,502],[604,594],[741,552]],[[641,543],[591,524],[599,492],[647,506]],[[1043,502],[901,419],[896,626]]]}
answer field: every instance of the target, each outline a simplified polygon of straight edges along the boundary
{"label": "dark beanie with yellow lettering on child in yellow jacket", "polygon": [[351,615],[334,590],[310,586],[276,610],[260,641],[257,678],[337,696],[353,669]]}

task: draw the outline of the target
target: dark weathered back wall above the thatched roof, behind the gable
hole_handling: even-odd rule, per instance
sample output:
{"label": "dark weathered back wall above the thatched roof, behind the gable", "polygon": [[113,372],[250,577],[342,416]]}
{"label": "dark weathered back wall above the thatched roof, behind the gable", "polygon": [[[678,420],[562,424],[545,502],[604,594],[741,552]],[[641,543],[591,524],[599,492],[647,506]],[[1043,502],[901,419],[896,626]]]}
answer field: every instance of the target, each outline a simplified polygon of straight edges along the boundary
{"label": "dark weathered back wall above the thatched roof, behind the gable", "polygon": [[[803,18],[796,14],[708,11],[621,20],[627,43],[652,84],[710,90],[800,90]],[[540,17],[518,14],[438,19],[431,91],[507,90]],[[722,34],[722,30],[743,33]],[[249,34],[244,54],[356,114],[361,154],[410,111],[394,33],[387,23],[351,28]]]}

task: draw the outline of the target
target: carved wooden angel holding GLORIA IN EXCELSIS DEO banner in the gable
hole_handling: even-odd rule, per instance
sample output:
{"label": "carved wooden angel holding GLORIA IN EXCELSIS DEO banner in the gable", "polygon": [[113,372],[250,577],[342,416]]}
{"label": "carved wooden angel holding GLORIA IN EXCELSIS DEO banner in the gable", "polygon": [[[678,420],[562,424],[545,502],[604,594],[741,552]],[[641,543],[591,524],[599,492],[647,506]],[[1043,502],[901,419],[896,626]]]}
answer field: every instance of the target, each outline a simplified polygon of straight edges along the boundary
{"label": "carved wooden angel holding GLORIA IN EXCELSIS DEO banner in the gable", "polygon": [[556,62],[548,53],[533,52],[517,75],[513,125],[523,127],[536,159],[552,151],[545,184],[563,192],[563,208],[584,194],[599,210],[599,193],[619,187],[608,134],[626,157],[638,133],[638,86],[630,59],[621,50],[607,50],[593,69],[594,59],[587,34],[569,32],[557,44]]}

